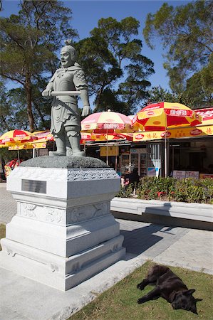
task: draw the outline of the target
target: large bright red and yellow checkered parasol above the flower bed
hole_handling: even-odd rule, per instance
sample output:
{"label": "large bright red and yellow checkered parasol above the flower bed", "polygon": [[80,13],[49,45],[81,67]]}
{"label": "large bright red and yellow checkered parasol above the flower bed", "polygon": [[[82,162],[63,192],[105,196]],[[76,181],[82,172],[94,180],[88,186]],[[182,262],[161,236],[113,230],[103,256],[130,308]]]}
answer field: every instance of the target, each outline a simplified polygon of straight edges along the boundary
{"label": "large bright red and yellow checkered parasol above the flower bed", "polygon": [[196,126],[202,117],[194,110],[175,102],[158,102],[142,108],[133,118],[133,124],[145,131],[165,131],[168,127],[188,124]]}

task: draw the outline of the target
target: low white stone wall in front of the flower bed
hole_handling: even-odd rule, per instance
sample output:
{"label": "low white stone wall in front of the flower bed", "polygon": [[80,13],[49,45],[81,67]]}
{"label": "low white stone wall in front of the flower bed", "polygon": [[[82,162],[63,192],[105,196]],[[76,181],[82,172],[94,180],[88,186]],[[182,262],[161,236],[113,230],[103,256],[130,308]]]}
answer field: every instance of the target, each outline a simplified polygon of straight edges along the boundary
{"label": "low white stone wall in front of the flower bed", "polygon": [[115,197],[110,208],[117,218],[213,230],[213,206],[208,204]]}

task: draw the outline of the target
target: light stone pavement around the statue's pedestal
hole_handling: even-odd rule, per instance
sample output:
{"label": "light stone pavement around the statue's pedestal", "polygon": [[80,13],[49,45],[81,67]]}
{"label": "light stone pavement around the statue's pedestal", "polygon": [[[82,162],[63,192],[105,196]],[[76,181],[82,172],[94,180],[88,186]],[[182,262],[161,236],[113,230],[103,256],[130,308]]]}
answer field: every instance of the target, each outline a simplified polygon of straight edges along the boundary
{"label": "light stone pavement around the statue's pedestal", "polygon": [[[0,221],[8,223],[16,203],[0,183]],[[125,259],[77,287],[60,292],[7,270],[0,270],[1,320],[68,319],[146,260],[213,274],[213,233],[117,219],[124,235]]]}

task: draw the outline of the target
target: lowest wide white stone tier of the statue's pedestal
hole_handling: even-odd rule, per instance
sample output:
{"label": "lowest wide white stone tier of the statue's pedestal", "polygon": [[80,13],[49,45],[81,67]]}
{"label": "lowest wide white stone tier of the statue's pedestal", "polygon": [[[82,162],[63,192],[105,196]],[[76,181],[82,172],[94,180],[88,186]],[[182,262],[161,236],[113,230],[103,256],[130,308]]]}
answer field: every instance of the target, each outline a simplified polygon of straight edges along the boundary
{"label": "lowest wide white stone tier of the statue's pedestal", "polygon": [[68,290],[125,255],[123,236],[65,258],[4,238],[1,267],[50,287]]}

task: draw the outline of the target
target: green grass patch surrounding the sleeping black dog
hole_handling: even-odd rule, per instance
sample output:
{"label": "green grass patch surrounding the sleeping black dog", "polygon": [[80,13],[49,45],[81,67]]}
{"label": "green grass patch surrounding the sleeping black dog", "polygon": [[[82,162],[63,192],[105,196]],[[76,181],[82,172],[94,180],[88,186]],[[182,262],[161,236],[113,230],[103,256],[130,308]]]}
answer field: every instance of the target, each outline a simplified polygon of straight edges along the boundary
{"label": "green grass patch surrounding the sleeping black dog", "polygon": [[195,298],[202,298],[202,302],[197,302],[197,312],[185,310],[173,310],[172,305],[165,299],[157,299],[137,304],[137,299],[147,294],[153,287],[147,286],[143,291],[137,289],[137,283],[141,282],[147,274],[147,270],[152,262],[138,268],[122,281],[115,284],[108,291],[100,294],[93,302],[83,309],[73,314],[70,320],[139,320],[139,319],[213,319],[212,310],[212,282],[213,276],[202,272],[192,272],[189,270],[170,267],[187,284],[189,289],[196,289]]}

